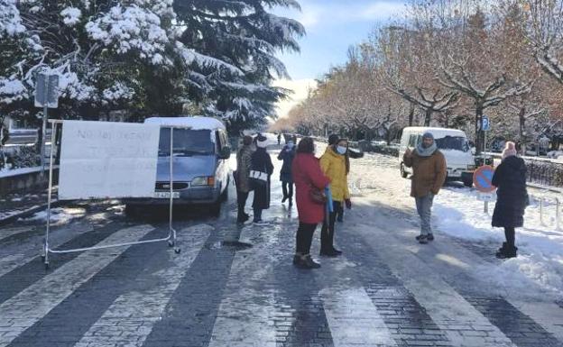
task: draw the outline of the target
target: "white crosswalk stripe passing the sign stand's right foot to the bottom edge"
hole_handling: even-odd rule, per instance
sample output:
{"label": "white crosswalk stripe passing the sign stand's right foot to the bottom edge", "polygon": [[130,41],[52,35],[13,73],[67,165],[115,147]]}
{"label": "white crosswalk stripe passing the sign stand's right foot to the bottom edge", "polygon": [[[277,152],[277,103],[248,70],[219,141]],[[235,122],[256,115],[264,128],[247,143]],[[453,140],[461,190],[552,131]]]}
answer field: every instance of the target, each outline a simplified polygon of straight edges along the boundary
{"label": "white crosswalk stripe passing the sign stand's right foot to the bottom edge", "polygon": [[192,261],[198,256],[211,230],[213,227],[207,224],[180,230],[180,254],[170,251],[170,266],[149,275],[157,284],[148,290],[128,292],[117,297],[75,346],[98,345],[102,342],[101,336],[104,341],[114,344],[142,346],[151,333],[153,324],[162,319],[162,313],[172,294],[180,285]]}

